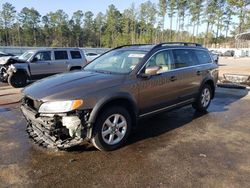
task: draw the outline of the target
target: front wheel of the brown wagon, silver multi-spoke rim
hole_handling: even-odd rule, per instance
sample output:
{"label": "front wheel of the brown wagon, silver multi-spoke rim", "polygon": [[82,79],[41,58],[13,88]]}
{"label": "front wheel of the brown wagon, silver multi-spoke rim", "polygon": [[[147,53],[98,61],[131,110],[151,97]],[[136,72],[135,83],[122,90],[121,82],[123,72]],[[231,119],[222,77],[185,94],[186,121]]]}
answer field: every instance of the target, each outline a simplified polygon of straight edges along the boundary
{"label": "front wheel of the brown wagon, silver multi-spoke rim", "polygon": [[120,148],[129,136],[131,123],[131,117],[125,108],[106,108],[94,124],[92,144],[104,151]]}

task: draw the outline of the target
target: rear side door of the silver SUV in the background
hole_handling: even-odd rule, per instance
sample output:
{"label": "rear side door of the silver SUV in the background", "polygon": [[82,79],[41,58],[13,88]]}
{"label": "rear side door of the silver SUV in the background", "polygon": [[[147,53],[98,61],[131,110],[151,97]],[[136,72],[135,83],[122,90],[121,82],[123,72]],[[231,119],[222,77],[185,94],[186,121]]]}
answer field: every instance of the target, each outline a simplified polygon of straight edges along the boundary
{"label": "rear side door of the silver SUV in the background", "polygon": [[54,50],[52,67],[55,73],[62,73],[68,70],[69,54],[67,50]]}

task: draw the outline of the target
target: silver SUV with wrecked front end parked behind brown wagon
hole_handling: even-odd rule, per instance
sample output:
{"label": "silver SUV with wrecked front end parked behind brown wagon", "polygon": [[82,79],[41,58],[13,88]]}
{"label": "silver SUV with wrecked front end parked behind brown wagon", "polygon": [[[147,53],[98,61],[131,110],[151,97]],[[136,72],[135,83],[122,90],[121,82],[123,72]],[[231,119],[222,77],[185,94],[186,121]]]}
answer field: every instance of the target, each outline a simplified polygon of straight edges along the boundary
{"label": "silver SUV with wrecked front end parked behind brown wagon", "polygon": [[8,81],[13,87],[23,87],[28,81],[81,69],[86,63],[86,57],[79,48],[29,50],[0,65],[0,74],[2,81]]}

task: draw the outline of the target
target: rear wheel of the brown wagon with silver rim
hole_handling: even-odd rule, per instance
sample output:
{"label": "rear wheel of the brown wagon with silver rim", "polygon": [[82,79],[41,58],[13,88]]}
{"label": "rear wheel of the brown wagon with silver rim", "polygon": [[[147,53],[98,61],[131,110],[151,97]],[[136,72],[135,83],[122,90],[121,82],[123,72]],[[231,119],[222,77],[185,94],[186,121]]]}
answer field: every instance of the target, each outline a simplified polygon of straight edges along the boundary
{"label": "rear wheel of the brown wagon with silver rim", "polygon": [[196,101],[193,104],[193,108],[200,112],[205,112],[209,107],[212,99],[212,89],[208,84],[205,84]]}

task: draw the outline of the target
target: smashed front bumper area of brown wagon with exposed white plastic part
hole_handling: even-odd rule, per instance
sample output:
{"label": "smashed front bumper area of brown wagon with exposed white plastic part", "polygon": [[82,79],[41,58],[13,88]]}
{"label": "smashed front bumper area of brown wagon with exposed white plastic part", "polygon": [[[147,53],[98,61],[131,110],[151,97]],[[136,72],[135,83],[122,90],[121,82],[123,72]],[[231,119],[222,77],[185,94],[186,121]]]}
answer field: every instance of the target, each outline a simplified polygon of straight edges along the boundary
{"label": "smashed front bumper area of brown wagon with exposed white plastic part", "polygon": [[21,111],[27,120],[27,132],[36,143],[47,148],[67,149],[88,137],[87,112],[41,115],[26,105]]}

